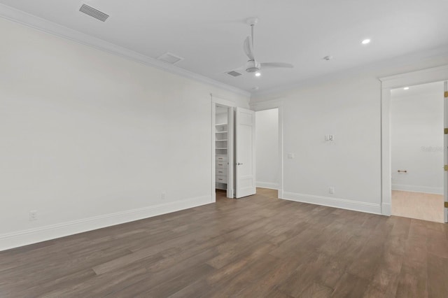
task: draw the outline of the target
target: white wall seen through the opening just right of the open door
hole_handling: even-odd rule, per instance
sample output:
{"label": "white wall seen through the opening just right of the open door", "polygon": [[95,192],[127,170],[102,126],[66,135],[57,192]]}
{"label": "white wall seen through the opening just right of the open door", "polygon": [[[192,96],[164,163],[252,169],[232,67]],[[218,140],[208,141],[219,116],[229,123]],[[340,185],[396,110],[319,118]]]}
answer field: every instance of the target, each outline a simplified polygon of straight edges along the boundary
{"label": "white wall seen through the opening just right of the open door", "polygon": [[279,187],[279,109],[255,113],[257,187]]}

